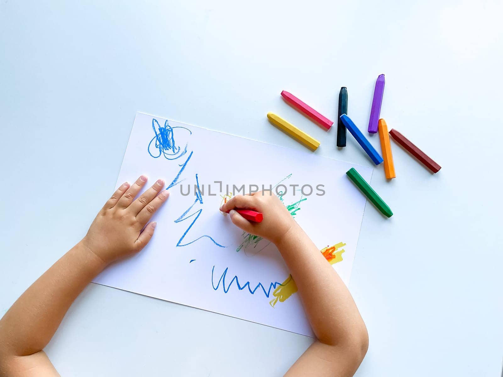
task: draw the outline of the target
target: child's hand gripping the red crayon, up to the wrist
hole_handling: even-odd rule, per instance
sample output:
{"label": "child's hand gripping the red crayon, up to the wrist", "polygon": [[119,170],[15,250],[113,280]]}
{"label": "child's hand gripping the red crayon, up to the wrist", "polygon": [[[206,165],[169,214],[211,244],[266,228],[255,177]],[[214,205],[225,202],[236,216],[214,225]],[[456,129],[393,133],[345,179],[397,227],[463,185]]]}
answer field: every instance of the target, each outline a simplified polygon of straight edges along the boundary
{"label": "child's hand gripping the red crayon, up to the wrist", "polygon": [[[236,211],[232,211],[234,208],[262,212],[264,220],[261,223],[248,221]],[[222,212],[229,210],[234,225],[273,243],[279,242],[292,226],[297,224],[285,205],[270,191],[235,196],[220,208]]]}

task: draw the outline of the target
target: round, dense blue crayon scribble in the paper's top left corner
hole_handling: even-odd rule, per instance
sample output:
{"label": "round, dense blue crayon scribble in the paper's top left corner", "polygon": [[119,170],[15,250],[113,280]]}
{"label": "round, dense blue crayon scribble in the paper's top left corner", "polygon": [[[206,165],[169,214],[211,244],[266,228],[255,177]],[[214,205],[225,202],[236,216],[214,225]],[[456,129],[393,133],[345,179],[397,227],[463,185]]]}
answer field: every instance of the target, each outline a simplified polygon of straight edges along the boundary
{"label": "round, dense blue crayon scribble in the paper's top left corner", "polygon": [[168,160],[176,160],[187,153],[187,144],[185,144],[183,150],[180,146],[175,144],[175,133],[173,130],[177,128],[187,130],[192,135],[192,131],[188,128],[181,126],[171,127],[167,120],[164,122],[164,127],[161,127],[156,119],[152,119],[152,129],[154,130],[155,136],[150,140],[150,143],[148,143],[148,154],[153,158],[163,155],[164,158]]}

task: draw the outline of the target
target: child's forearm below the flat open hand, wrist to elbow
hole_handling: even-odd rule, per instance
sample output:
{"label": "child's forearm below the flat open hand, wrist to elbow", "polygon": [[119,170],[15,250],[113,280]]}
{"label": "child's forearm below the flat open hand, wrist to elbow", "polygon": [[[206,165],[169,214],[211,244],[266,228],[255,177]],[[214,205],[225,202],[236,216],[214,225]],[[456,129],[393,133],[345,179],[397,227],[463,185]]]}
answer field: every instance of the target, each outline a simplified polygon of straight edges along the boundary
{"label": "child's forearm below the flat open hand, wrist to elbow", "polygon": [[0,320],[0,353],[26,356],[41,351],[72,302],[104,267],[81,242],[71,248]]}

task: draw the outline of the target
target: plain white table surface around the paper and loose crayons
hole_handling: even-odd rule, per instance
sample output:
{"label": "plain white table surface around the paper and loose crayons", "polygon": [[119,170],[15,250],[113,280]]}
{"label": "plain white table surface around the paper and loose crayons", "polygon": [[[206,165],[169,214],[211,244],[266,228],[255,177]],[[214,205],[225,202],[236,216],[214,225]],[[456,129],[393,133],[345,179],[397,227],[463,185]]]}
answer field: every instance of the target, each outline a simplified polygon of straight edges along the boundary
{"label": "plain white table surface around the paper and loose crayons", "polygon": [[[412,3],[0,2],[0,314],[86,233],[136,111],[302,149],[269,124],[274,111],[318,138],[317,154],[372,166],[280,92],[335,119],[347,86],[365,129],[385,73],[381,116],[442,170],[392,142],[397,178],[374,171],[394,216],[365,210],[350,289],[370,347],[357,375],[498,375],[503,8]],[[62,375],[275,376],[310,342],[91,284],[46,351]]]}

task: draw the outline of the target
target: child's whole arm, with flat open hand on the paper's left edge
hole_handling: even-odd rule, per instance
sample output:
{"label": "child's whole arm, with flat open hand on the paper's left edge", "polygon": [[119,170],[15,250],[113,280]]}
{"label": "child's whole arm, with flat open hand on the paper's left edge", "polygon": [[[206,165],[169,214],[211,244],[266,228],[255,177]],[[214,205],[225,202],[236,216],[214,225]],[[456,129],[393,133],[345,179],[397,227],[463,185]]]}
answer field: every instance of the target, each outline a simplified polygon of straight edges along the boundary
{"label": "child's whole arm, with flat open hand on the paper's left edge", "polygon": [[[0,320],[0,376],[59,375],[42,349],[73,300],[112,261],[140,251],[153,235],[150,217],[166,200],[158,180],[138,199],[147,178],[124,183],[88,234],[40,276]],[[142,231],[143,229],[143,231]]]}

